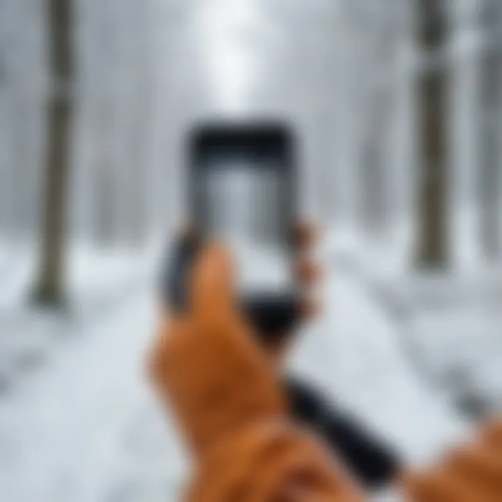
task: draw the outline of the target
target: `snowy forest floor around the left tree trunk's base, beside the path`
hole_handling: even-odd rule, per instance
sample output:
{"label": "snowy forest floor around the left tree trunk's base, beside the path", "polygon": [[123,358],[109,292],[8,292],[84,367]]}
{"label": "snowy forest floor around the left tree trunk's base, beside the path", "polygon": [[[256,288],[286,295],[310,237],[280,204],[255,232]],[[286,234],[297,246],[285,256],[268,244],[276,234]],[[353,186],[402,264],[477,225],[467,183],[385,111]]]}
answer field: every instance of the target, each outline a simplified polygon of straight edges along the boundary
{"label": "snowy forest floor around the left tree trunk's base, beside the path", "polygon": [[42,363],[61,338],[84,336],[109,312],[122,308],[152,268],[150,251],[103,251],[74,244],[67,264],[67,305],[63,312],[43,312],[30,301],[36,277],[36,246],[26,242],[4,245],[3,249],[0,388],[8,387],[17,373]]}

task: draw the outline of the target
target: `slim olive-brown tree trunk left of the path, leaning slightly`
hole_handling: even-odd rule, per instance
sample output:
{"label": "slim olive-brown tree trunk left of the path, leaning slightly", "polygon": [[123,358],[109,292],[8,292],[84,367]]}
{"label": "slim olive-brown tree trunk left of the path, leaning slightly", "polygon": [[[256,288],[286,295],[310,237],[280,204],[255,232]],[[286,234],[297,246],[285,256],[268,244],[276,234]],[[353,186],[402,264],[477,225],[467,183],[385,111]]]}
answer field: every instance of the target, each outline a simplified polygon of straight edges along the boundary
{"label": "slim olive-brown tree trunk left of the path, leaning slightly", "polygon": [[64,302],[64,234],[69,173],[72,114],[70,0],[49,0],[49,37],[52,88],[47,105],[47,157],[40,272],[34,294],[36,303],[60,307]]}

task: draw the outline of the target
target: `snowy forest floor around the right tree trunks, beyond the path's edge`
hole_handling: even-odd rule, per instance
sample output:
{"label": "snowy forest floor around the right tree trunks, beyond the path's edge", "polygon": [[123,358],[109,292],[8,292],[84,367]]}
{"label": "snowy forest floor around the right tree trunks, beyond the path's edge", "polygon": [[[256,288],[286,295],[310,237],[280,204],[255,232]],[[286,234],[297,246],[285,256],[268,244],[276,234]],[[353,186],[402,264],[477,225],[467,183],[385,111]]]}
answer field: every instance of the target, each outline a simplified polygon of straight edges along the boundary
{"label": "snowy forest floor around the right tree trunks, beyond the path's edge", "polygon": [[471,415],[502,406],[502,265],[482,256],[469,206],[455,211],[450,267],[426,273],[414,266],[412,219],[380,240],[335,229],[324,259],[350,268],[372,303],[400,333],[399,346],[427,386]]}

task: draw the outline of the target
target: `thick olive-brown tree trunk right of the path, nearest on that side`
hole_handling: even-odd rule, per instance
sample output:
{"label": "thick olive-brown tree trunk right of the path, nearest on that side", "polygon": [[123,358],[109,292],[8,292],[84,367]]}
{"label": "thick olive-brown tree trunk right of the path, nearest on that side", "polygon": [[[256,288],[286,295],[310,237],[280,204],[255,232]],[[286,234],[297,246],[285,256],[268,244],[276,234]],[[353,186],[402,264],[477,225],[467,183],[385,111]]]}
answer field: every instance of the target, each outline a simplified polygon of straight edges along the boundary
{"label": "thick olive-brown tree trunk right of the path, nearest on that side", "polygon": [[[438,0],[418,1],[418,37],[425,54],[437,53],[446,38],[444,6]],[[439,68],[425,70],[418,82],[419,236],[418,266],[448,266],[447,231],[447,79]]]}

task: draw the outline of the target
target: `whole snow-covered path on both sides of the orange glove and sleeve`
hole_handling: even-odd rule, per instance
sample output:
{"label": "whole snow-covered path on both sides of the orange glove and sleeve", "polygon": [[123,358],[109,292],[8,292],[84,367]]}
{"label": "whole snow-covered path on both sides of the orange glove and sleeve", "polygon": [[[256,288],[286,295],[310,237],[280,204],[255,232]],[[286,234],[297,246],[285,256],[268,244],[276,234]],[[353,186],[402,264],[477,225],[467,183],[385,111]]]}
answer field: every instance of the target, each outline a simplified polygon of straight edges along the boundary
{"label": "whole snow-covered path on both sides of the orange glove and sleeve", "polygon": [[[67,337],[0,397],[0,500],[176,500],[182,450],[142,374],[153,333],[148,291],[145,285],[127,298],[104,324]],[[292,366],[414,462],[462,432],[460,420],[413,378],[395,328],[362,284],[337,272],[326,294],[330,314],[303,338]]]}

